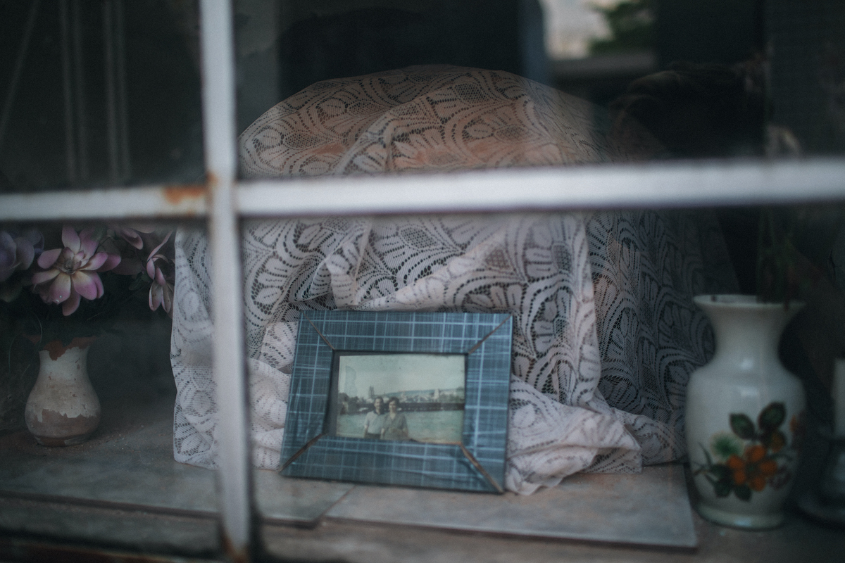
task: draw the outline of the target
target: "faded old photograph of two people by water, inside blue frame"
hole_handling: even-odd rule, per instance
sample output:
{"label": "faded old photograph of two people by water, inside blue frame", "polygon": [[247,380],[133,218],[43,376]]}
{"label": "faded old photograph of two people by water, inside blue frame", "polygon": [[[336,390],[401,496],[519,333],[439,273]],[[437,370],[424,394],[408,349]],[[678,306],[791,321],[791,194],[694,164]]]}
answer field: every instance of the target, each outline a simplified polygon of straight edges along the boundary
{"label": "faded old photograph of two people by water, inside blue frame", "polygon": [[461,441],[464,355],[350,354],[336,365],[335,436]]}

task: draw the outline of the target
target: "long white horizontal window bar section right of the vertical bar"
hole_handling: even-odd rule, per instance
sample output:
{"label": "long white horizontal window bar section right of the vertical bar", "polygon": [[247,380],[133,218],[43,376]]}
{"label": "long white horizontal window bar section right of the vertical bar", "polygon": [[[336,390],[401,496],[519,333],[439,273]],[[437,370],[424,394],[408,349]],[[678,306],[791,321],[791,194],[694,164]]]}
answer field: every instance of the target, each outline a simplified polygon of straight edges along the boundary
{"label": "long white horizontal window bar section right of the vertical bar", "polygon": [[684,162],[242,182],[248,217],[845,201],[845,160]]}

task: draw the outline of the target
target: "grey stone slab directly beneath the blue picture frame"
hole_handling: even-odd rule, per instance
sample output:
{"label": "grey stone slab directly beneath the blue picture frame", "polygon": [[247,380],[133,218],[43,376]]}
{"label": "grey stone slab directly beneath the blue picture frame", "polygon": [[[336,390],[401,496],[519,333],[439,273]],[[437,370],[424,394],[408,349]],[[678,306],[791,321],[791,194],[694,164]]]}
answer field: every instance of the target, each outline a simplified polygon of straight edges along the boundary
{"label": "grey stone slab directly beneath the blue picture frame", "polygon": [[358,485],[326,517],[515,536],[693,548],[684,468],[577,474],[533,495],[484,495]]}

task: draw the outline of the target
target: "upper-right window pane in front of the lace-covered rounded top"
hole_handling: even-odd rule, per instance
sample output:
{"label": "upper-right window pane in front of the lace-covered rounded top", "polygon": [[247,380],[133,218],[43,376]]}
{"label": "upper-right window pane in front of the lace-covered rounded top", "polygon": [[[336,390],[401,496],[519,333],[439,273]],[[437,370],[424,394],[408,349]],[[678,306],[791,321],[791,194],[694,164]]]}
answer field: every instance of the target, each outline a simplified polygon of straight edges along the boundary
{"label": "upper-right window pane in front of the lace-covered rounded top", "polygon": [[837,3],[235,6],[245,177],[842,154]]}

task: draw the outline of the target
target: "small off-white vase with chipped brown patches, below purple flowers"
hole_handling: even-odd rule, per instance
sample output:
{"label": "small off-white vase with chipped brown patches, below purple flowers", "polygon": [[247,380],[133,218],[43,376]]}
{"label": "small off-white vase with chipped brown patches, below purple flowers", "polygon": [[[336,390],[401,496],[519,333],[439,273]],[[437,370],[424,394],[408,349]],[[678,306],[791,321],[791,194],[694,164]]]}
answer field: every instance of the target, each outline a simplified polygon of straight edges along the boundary
{"label": "small off-white vase with chipped brown patches, below purple flowers", "polygon": [[94,338],[46,344],[41,368],[26,400],[26,427],[43,446],[74,446],[100,425],[100,399],[88,378],[88,347]]}

